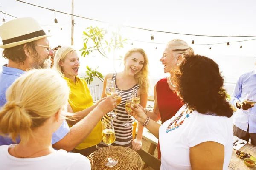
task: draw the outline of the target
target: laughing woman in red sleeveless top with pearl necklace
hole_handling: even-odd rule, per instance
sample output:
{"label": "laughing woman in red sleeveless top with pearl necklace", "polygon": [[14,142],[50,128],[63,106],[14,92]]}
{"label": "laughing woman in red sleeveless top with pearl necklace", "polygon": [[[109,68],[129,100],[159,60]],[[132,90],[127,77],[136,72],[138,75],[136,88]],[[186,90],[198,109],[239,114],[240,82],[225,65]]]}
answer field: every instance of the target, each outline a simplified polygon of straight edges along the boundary
{"label": "laughing woman in red sleeveless top with pearl necklace", "polygon": [[[167,43],[166,48],[163,52],[163,56],[160,62],[164,65],[164,72],[169,73],[172,69],[175,69],[180,61],[183,59],[184,53],[194,53],[193,49],[188,44],[179,39],[171,40]],[[154,86],[154,109],[153,111],[144,112],[150,116],[154,121],[161,119],[162,124],[166,120],[171,119],[177,111],[183,106],[181,99],[175,93],[175,85],[172,84],[171,75],[167,78],[160,79]],[[158,159],[161,159],[161,152],[157,145]]]}

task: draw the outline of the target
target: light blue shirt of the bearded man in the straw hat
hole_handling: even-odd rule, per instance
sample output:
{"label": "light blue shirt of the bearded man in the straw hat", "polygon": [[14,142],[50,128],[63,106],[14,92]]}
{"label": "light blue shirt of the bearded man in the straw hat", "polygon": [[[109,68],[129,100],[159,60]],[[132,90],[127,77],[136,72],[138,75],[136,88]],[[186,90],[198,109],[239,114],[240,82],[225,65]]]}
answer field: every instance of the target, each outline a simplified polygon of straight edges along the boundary
{"label": "light blue shirt of the bearded man in the straw hat", "polygon": [[[23,73],[25,73],[25,71],[23,70],[3,66],[3,71],[0,73],[0,107],[2,107],[6,103],[7,88],[9,88],[9,86],[12,85],[12,83]],[[69,131],[70,128],[67,125],[66,120],[64,120],[61,124],[61,127],[59,127],[57,131],[52,133],[52,144],[55,144],[56,142],[64,138],[64,136],[66,136]],[[17,139],[17,143],[19,142],[20,139]],[[10,145],[14,143],[15,142],[13,142],[12,139],[0,136],[0,145]]]}

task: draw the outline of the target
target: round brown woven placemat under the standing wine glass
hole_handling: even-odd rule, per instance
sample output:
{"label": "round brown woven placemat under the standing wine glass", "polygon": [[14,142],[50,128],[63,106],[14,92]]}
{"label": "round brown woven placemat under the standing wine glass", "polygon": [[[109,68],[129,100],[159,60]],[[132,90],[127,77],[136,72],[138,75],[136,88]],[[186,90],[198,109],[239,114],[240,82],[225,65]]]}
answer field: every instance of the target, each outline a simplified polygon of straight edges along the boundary
{"label": "round brown woven placemat under the standing wine glass", "polygon": [[105,159],[109,158],[108,147],[101,148],[91,153],[87,158],[90,160],[92,170],[141,170],[142,160],[134,150],[122,147],[111,146],[111,154],[118,160],[114,167],[106,167]]}

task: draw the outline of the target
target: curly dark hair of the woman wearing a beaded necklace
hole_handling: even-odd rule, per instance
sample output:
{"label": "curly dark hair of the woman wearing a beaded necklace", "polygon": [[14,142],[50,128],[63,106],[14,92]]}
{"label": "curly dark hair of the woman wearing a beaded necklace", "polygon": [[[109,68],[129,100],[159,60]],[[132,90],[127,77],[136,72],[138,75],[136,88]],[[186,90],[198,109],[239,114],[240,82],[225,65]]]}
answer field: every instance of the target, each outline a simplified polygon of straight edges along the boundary
{"label": "curly dark hair of the woman wearing a beaded necklace", "polygon": [[212,59],[187,54],[180,65],[171,72],[172,81],[177,85],[177,93],[198,113],[231,117],[233,111],[226,101],[218,64]]}

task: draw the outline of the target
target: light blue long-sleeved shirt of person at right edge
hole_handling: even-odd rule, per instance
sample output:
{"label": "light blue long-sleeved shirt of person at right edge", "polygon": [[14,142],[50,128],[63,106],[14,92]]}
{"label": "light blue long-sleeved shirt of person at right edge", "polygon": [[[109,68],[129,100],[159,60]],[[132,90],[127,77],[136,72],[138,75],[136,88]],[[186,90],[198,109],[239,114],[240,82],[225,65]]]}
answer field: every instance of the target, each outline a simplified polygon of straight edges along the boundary
{"label": "light blue long-sleeved shirt of person at right edge", "polygon": [[[256,70],[239,77],[231,95],[232,104],[236,106],[238,101],[244,102],[247,94],[256,97]],[[244,131],[247,131],[249,125],[249,133],[256,133],[256,105],[248,111],[237,109],[234,116],[234,125]]]}

